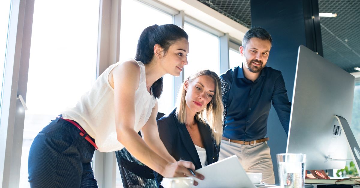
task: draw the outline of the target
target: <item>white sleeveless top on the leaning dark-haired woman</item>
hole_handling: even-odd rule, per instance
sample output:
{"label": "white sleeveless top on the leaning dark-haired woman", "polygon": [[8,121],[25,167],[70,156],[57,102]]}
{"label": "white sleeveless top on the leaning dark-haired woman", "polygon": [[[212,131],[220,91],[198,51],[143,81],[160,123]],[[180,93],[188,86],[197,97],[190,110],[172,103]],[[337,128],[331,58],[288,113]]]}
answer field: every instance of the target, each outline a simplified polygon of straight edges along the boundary
{"label": "white sleeveless top on the leaning dark-haired woman", "polygon": [[[140,66],[140,82],[135,91],[135,132],[143,128],[156,103],[156,98],[146,88],[145,66],[141,61],[137,63]],[[64,119],[79,123],[87,134],[95,139],[96,146],[101,152],[121,150],[124,147],[117,140],[114,89],[108,81],[109,73],[119,64],[120,62],[110,65],[96,79],[91,90],[81,96],[76,106],[62,113]]]}

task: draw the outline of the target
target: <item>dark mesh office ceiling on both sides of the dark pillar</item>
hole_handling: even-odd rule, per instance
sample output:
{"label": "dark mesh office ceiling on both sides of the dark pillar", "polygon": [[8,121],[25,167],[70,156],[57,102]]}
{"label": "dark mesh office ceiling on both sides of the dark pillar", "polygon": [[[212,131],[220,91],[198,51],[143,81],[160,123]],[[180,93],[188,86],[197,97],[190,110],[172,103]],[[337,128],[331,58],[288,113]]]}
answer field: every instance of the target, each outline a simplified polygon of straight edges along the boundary
{"label": "dark mesh office ceiling on both sides of the dark pillar", "polygon": [[[198,0],[243,26],[251,27],[250,0]],[[360,0],[318,0],[324,58],[347,72],[360,68]]]}

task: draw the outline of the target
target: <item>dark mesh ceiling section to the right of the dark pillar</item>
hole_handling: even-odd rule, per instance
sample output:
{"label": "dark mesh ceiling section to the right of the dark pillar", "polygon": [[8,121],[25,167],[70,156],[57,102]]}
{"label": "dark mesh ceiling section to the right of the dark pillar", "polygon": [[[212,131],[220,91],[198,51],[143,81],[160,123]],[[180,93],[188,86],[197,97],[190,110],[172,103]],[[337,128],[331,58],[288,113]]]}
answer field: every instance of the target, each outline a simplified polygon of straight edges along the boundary
{"label": "dark mesh ceiling section to the right of the dark pillar", "polygon": [[320,17],[324,58],[347,72],[360,67],[360,1],[318,0],[319,12],[337,13]]}

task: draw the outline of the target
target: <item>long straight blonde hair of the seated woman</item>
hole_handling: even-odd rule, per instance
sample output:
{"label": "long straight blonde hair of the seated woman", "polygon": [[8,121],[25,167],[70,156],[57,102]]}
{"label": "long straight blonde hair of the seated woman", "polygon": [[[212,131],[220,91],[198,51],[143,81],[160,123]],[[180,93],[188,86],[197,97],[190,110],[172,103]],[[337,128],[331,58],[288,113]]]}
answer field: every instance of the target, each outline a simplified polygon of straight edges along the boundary
{"label": "long straight blonde hair of the seated woman", "polygon": [[[189,80],[189,82],[191,82],[202,75],[207,75],[212,78],[216,88],[212,100],[203,110],[195,114],[195,119],[197,121],[207,123],[210,126],[212,130],[211,135],[214,138],[216,144],[219,145],[222,137],[222,125],[224,118],[224,105],[222,104],[222,80],[215,72],[211,70],[198,71],[190,75],[190,77],[186,80]],[[186,123],[186,90],[184,88],[184,83],[186,82],[186,80],[181,84],[181,88],[179,93],[177,94],[176,100],[176,116],[177,119],[179,119],[179,122],[184,124]]]}

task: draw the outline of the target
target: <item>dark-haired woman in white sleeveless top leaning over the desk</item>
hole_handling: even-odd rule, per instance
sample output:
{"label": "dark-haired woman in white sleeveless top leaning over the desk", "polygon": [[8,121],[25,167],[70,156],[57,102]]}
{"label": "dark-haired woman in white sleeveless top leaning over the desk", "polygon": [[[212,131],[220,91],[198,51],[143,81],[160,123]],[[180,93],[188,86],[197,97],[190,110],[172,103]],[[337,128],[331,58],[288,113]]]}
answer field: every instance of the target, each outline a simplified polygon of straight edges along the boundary
{"label": "dark-haired woman in white sleeveless top leaning over the desk", "polygon": [[156,124],[162,76],[179,76],[188,52],[188,35],[176,25],[145,28],[135,60],[107,68],[75,107],[36,136],[28,159],[30,186],[98,187],[90,164],[94,150],[123,147],[165,177],[191,175],[187,168],[195,166],[169,155]]}

